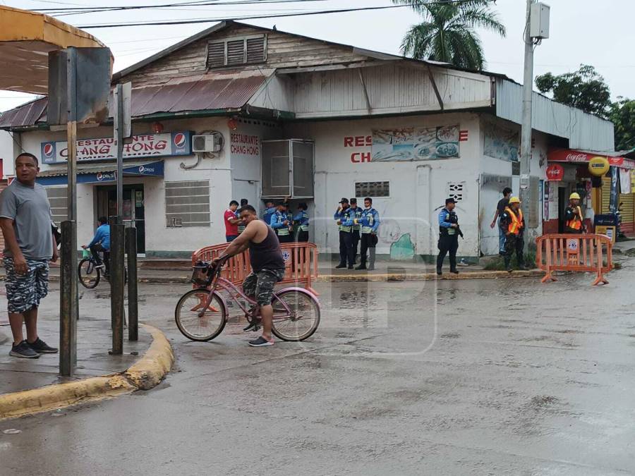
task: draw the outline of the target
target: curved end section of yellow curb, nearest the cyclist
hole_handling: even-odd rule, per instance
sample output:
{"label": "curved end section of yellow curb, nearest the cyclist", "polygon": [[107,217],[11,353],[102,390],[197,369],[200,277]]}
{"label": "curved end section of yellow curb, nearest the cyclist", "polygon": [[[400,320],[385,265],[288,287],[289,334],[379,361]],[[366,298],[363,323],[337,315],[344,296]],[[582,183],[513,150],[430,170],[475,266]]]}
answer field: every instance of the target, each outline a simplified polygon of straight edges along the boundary
{"label": "curved end section of yellow curb, nearest the cyclist", "polygon": [[123,374],[140,390],[152,389],[162,381],[174,364],[172,346],[156,327],[142,324],[152,334],[152,345],[143,355]]}

